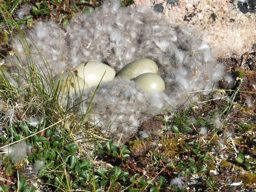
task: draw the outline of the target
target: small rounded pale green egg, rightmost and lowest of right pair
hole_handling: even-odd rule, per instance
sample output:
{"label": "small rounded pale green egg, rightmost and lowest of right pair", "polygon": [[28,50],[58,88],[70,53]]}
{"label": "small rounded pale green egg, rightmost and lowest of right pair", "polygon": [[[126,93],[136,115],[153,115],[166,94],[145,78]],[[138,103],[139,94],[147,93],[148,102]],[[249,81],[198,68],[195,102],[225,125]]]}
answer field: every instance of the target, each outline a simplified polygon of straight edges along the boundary
{"label": "small rounded pale green egg, rightmost and lowest of right pair", "polygon": [[165,90],[164,80],[155,73],[143,73],[133,80],[136,84],[140,85],[150,93],[153,91],[161,92]]}

